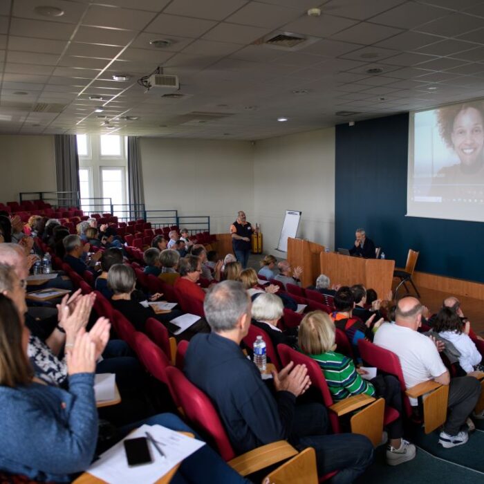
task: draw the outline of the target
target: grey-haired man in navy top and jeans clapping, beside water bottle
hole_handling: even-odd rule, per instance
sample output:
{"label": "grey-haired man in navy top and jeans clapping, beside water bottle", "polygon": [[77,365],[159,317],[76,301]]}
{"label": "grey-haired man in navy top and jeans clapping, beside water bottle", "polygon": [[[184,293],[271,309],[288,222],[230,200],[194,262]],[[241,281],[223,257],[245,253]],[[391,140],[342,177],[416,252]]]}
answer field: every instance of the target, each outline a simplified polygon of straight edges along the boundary
{"label": "grey-haired man in navy top and jeans clapping, beside water bottle", "polygon": [[325,435],[324,406],[296,406],[297,396],[310,386],[306,366],[291,362],[272,372],[274,398],[257,366],[242,353],[239,345],[249,331],[251,304],[241,283],[212,286],[204,310],[212,333],[192,338],[185,374],[214,402],[235,452],[288,439],[299,449],[315,449],[320,476],[339,471],[333,483],[351,483],[362,474],[373,457],[370,441],[357,434]]}

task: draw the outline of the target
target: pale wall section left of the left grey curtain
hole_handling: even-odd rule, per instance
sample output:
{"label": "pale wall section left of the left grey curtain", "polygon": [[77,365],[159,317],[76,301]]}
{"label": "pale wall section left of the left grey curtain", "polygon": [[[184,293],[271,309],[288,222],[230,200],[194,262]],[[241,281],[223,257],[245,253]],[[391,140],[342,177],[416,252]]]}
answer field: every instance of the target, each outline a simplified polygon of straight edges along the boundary
{"label": "pale wall section left of the left grey curtain", "polygon": [[19,200],[19,192],[57,189],[53,136],[0,136],[0,201]]}

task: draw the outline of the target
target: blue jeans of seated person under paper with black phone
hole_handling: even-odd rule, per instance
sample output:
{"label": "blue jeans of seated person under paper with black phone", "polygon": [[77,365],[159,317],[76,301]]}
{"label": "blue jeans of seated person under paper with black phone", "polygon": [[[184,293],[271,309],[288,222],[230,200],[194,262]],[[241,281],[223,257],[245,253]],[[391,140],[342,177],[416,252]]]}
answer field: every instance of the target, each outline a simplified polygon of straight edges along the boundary
{"label": "blue jeans of seated person under paper with black phone", "polygon": [[[137,429],[143,424],[158,424],[171,430],[192,432],[196,438],[201,440],[190,427],[185,425],[173,413],[159,413],[141,422],[126,425],[120,429],[120,436],[127,436],[131,430]],[[211,447],[204,445],[201,449],[198,449],[194,454],[183,460],[171,483],[250,484],[250,481],[237,474]]]}

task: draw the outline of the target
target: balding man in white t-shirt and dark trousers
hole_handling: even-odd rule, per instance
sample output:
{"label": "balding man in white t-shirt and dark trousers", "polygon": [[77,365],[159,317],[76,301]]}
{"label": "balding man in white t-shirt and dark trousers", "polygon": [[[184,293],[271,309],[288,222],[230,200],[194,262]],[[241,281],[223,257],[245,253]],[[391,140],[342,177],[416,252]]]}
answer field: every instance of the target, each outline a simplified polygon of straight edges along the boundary
{"label": "balding man in white t-shirt and dark trousers", "polygon": [[[446,448],[462,445],[469,438],[465,422],[476,407],[481,384],[472,376],[450,379],[434,340],[417,331],[422,310],[422,304],[415,297],[400,299],[395,324],[382,324],[373,342],[398,355],[407,388],[427,380],[449,385],[449,414],[438,443]],[[415,406],[416,399],[411,399],[411,404]]]}

